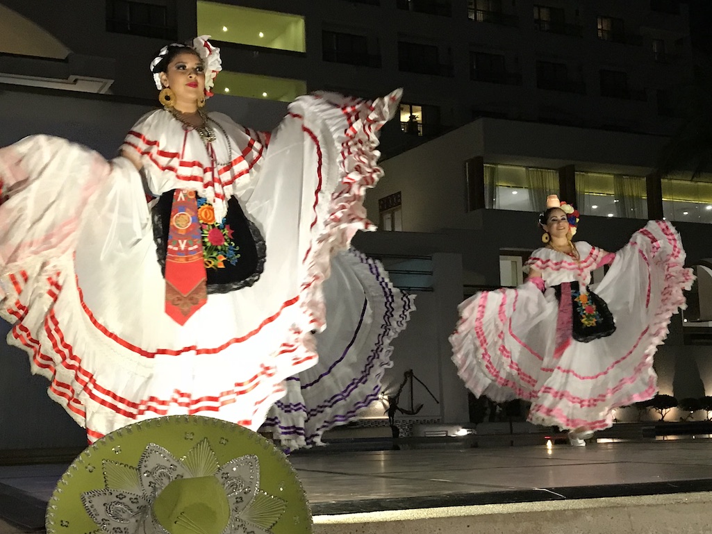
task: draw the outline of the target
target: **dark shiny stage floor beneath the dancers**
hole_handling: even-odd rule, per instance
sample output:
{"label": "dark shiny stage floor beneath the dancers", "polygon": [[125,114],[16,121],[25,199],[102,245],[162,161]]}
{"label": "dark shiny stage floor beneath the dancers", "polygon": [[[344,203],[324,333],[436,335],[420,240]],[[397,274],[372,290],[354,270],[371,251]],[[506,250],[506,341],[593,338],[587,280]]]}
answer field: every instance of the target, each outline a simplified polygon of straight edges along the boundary
{"label": "dark shiny stage floor beneath the dancers", "polygon": [[[329,451],[290,457],[314,515],[712,491],[712,441]],[[43,532],[66,464],[0,466],[0,534]]]}

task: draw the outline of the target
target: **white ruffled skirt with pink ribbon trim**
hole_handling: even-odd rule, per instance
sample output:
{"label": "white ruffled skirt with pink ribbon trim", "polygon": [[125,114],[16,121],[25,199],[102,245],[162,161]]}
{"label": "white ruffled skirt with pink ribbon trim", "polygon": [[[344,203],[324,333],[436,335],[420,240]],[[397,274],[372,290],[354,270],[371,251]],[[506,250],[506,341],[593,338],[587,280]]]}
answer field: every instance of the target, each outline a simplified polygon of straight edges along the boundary
{"label": "white ruffled skirt with pink ribbon trim", "polygon": [[616,330],[590,342],[572,340],[554,356],[558,301],[531,283],[473,295],[459,307],[450,337],[460,377],[476,396],[524,399],[528,420],[562,429],[604,429],[612,410],[654,397],[653,355],[670,318],[685,307],[693,283],[679,234],[650,221],[616,257],[596,293]]}

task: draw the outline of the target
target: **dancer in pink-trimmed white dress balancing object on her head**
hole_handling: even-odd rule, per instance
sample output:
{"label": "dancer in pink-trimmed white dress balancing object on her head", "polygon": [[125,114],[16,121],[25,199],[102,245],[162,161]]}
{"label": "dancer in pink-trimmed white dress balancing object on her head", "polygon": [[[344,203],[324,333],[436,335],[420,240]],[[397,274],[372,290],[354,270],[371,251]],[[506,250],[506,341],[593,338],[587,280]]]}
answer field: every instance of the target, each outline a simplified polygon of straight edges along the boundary
{"label": "dancer in pink-trimmed white dress balancing object on her head", "polygon": [[[531,403],[528,421],[570,431],[583,446],[617,407],[657,392],[653,355],[693,283],[680,236],[649,221],[617,253],[572,241],[578,213],[555,195],[540,215],[544,246],[518,288],[477,293],[450,337],[460,377],[476,396]],[[591,273],[609,269],[595,292]]]}

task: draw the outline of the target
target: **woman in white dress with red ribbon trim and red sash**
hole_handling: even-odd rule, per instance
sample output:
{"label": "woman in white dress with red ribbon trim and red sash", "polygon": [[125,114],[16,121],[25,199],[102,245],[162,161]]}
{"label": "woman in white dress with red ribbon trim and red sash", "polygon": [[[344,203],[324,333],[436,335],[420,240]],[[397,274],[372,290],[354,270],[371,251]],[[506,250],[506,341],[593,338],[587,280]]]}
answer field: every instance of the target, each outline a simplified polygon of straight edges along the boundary
{"label": "woman in white dress with red ribbon trim and red sash", "polygon": [[[400,97],[300,97],[263,133],[204,112],[221,69],[207,36],[164,47],[151,68],[164,108],[132,127],[124,157],[48,136],[0,150],[8,341],[90,441],[167,414],[257,429],[285,379],[317,364],[323,282],[372,229],[362,201]],[[346,305],[385,294],[350,289]]]}

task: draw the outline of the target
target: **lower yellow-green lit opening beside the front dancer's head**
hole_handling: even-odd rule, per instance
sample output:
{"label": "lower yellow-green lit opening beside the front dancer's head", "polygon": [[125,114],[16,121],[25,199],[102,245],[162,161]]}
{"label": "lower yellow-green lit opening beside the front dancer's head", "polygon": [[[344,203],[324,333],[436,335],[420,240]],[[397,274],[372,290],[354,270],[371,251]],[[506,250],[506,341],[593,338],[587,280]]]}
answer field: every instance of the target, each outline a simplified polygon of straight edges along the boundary
{"label": "lower yellow-green lit opening beside the front dancer's head", "polygon": [[307,92],[303,80],[275,78],[256,74],[234,73],[223,70],[215,78],[214,93],[221,95],[260,98],[261,100],[279,100],[292,102],[299,95]]}

